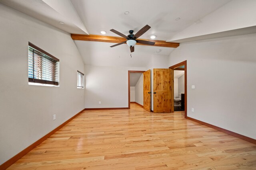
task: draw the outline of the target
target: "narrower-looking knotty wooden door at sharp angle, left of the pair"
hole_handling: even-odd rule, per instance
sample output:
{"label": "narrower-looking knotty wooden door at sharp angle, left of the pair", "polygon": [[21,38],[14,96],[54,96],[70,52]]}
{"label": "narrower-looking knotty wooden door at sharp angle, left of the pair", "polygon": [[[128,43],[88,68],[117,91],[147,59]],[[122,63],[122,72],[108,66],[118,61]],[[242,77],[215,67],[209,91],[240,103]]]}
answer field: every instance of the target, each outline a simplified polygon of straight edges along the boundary
{"label": "narrower-looking knotty wooden door at sharp angle, left of the pair", "polygon": [[150,70],[143,73],[143,108],[150,112],[151,106]]}

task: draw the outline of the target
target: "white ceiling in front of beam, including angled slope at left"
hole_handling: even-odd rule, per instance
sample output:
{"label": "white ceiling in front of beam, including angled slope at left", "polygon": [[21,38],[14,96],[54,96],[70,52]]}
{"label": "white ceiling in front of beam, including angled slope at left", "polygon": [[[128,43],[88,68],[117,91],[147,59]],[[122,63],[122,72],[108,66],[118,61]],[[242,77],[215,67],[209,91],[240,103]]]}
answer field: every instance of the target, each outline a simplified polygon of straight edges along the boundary
{"label": "white ceiling in front of beam, including angled slope at left", "polygon": [[[116,29],[128,35],[130,29],[136,32],[148,24],[151,29],[140,38],[154,34],[165,41],[227,2],[230,0],[0,0],[68,33],[99,35],[105,30],[106,35],[117,36],[109,31]],[[126,11],[130,14],[125,15]]]}

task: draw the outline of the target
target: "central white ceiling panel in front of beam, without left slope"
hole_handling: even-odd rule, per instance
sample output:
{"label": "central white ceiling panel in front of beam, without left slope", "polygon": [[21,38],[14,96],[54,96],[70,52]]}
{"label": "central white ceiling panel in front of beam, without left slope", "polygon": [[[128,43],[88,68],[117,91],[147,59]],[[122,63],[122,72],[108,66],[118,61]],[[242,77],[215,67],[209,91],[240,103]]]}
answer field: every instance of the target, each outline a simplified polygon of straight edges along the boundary
{"label": "central white ceiling panel in front of beam, without left slope", "polygon": [[[146,24],[151,28],[140,38],[167,40],[230,0],[71,0],[90,34],[118,36],[129,30],[139,31]],[[129,15],[124,12],[129,11]],[[176,21],[176,18],[181,20]]]}

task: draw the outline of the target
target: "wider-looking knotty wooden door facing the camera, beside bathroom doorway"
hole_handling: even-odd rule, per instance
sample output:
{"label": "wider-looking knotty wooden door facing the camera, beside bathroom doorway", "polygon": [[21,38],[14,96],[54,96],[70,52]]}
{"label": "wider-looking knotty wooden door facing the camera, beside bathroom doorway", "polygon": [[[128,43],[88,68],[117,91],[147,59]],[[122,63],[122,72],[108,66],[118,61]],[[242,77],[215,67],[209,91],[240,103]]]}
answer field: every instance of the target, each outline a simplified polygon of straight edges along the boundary
{"label": "wider-looking knotty wooden door facing the camera, beside bathroom doorway", "polygon": [[170,68],[153,69],[153,105],[154,113],[170,113],[174,111],[173,70]]}

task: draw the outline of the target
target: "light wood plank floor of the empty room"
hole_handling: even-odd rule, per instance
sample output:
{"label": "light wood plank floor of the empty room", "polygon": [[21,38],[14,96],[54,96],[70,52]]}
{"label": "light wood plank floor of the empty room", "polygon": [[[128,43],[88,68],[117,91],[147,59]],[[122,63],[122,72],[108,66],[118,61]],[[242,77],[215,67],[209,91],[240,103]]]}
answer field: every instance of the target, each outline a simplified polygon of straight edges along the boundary
{"label": "light wood plank floor of the empty room", "polygon": [[256,145],[184,113],[84,111],[10,169],[256,169]]}

